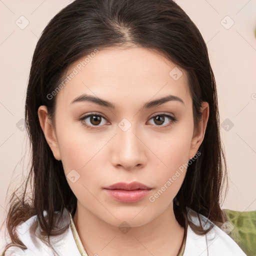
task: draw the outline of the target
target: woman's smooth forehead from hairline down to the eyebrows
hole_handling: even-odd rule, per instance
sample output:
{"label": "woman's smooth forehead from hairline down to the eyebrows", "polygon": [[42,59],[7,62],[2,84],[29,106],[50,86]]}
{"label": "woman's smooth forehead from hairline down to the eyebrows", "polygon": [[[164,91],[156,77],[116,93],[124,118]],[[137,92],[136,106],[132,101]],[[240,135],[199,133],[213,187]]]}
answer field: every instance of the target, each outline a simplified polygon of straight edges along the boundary
{"label": "woman's smooth forehead from hairline down to the eyebrows", "polygon": [[69,79],[57,97],[68,104],[82,93],[113,102],[119,98],[119,103],[131,96],[135,101],[167,93],[183,95],[184,101],[189,97],[185,71],[160,52],[140,46],[94,50],[70,65],[66,75]]}

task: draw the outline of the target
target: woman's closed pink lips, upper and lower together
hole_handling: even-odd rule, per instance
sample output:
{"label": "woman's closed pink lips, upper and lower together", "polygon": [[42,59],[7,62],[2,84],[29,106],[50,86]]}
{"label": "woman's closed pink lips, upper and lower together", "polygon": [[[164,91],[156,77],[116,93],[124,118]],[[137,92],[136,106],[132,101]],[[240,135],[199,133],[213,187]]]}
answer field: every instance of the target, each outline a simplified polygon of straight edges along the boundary
{"label": "woman's closed pink lips, upper and lower together", "polygon": [[136,202],[144,198],[151,190],[140,182],[118,182],[104,187],[104,191],[113,199],[120,202]]}

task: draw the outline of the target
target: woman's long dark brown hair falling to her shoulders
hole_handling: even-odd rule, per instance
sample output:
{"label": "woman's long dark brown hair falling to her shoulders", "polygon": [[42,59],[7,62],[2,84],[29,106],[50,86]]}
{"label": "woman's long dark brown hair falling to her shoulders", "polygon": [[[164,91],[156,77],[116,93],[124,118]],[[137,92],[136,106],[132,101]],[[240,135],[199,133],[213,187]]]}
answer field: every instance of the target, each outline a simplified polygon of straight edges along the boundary
{"label": "woman's long dark brown hair falling to her shoulders", "polygon": [[[198,149],[201,155],[187,167],[174,198],[177,221],[183,227],[190,224],[197,234],[208,231],[189,222],[187,207],[215,224],[226,220],[220,208],[226,163],[219,133],[216,84],[206,44],[196,25],[172,0],[75,0],[49,21],[32,57],[25,101],[31,167],[21,196],[13,192],[10,198],[6,226],[12,243],[8,246],[26,249],[15,234],[21,220],[36,214],[42,234],[49,241],[49,235],[58,234],[53,231],[54,211],[62,214],[66,208],[74,214],[76,210],[77,199],[66,181],[62,163],[54,158],[40,127],[38,107],[47,106],[54,124],[56,100],[47,95],[64,78],[68,67],[94,49],[125,43],[156,50],[185,70],[195,128],[201,116],[201,102],[209,104],[208,123]],[[29,180],[32,191],[26,198]]]}

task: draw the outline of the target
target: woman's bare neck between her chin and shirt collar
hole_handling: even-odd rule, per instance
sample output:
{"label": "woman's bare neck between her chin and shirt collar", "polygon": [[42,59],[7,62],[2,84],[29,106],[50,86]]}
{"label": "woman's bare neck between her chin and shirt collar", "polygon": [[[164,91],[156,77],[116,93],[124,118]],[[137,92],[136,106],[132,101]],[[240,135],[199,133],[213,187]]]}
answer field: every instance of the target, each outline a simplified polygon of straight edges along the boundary
{"label": "woman's bare neck between her chin and shirt collar", "polygon": [[175,219],[172,204],[152,221],[122,231],[78,202],[73,221],[88,256],[176,256],[184,235],[184,228]]}

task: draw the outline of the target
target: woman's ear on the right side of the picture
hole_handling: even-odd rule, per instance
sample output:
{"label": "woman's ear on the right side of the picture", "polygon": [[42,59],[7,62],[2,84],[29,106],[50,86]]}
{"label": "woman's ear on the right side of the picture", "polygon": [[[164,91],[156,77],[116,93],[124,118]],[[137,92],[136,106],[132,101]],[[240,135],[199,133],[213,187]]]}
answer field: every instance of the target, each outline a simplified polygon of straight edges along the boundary
{"label": "woman's ear on the right side of the picture", "polygon": [[200,144],[203,141],[208,117],[209,117],[209,104],[203,101],[201,103],[201,119],[198,123],[198,128],[194,130],[193,137],[190,144],[189,159],[191,159],[196,154]]}

